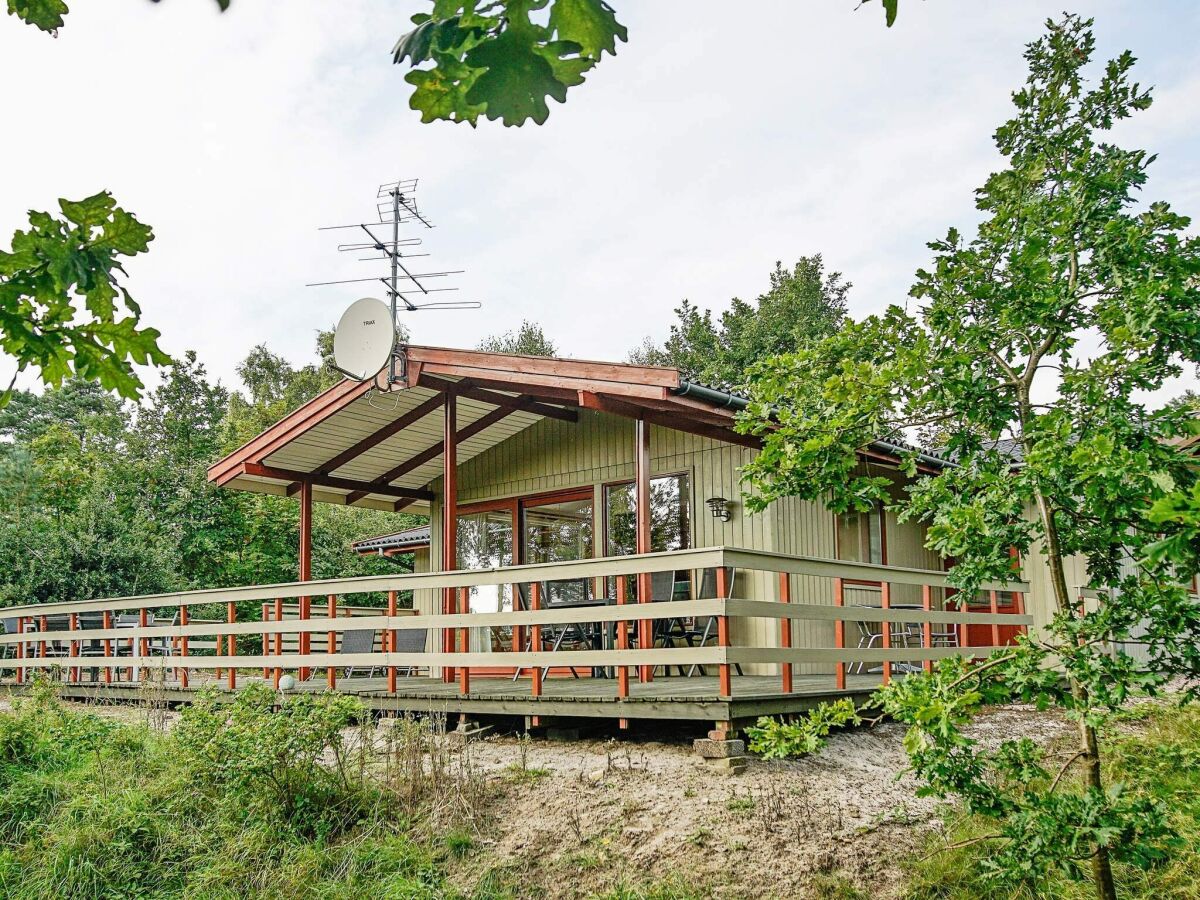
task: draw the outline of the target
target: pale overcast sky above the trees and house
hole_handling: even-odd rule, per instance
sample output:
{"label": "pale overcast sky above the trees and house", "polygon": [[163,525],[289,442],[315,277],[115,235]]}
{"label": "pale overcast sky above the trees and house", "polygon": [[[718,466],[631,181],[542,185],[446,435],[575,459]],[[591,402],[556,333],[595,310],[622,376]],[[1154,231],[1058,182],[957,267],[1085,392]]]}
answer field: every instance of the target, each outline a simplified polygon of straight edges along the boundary
{"label": "pale overcast sky above the trees and house", "polygon": [[[58,38],[0,18],[0,246],[28,209],[112,191],[156,234],[130,265],[144,322],[227,385],[257,343],[308,361],[376,293],[304,286],[379,271],[317,228],[371,221],[397,178],[438,226],[416,262],[466,269],[458,296],[484,305],[408,317],[420,343],[533,319],[569,355],[623,359],[682,299],[720,311],[817,252],[865,314],[974,221],[1022,46],[1063,7],[905,0],[886,29],[854,0],[612,2],[629,43],[545,126],[476,130],[408,108],[389,50],[416,0],[77,0]],[[1146,196],[1200,215],[1200,4],[1072,8],[1156,85],[1120,134],[1159,154]]]}

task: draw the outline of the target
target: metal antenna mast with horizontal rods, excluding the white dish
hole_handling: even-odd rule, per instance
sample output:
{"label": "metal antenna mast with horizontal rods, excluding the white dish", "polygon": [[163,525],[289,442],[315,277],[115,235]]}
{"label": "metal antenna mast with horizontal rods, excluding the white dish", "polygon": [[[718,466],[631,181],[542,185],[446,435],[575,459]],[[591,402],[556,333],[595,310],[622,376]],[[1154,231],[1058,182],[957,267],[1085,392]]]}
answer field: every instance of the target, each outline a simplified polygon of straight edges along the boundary
{"label": "metal antenna mast with horizontal rods, excluding the white dish", "polygon": [[[400,324],[398,313],[400,304],[403,304],[406,312],[416,312],[419,310],[478,310],[480,307],[476,300],[450,300],[450,301],[432,301],[425,300],[430,294],[457,290],[457,287],[446,288],[431,288],[426,287],[424,283],[428,278],[445,278],[451,275],[462,275],[462,269],[454,269],[448,271],[434,271],[434,272],[413,272],[404,265],[403,259],[410,259],[413,257],[427,257],[428,253],[404,253],[403,247],[418,247],[421,245],[420,238],[404,238],[400,236],[400,227],[402,224],[408,224],[410,222],[416,222],[424,226],[426,229],[433,228],[433,224],[420,212],[416,205],[416,179],[407,179],[401,181],[391,181],[384,185],[379,185],[379,190],[376,192],[376,214],[379,217],[378,223],[371,226],[364,224],[361,222],[356,224],[347,226],[325,226],[319,228],[322,232],[331,232],[346,228],[359,229],[366,233],[368,241],[359,241],[356,244],[338,244],[337,250],[340,253],[361,253],[364,251],[376,251],[378,256],[366,256],[359,257],[359,262],[374,262],[386,259],[389,262],[390,275],[388,278],[372,277],[372,278],[343,278],[340,281],[316,281],[310,282],[305,287],[326,287],[330,284],[354,284],[361,282],[380,282],[388,290],[388,306],[391,311],[391,324],[396,329]],[[372,228],[378,228],[378,226],[391,226],[391,240],[380,239]],[[413,287],[401,287],[401,282],[409,282]],[[421,302],[413,302],[407,294],[420,294],[419,300]],[[401,360],[401,371],[397,371],[396,361]],[[403,367],[403,350],[396,348],[388,361],[388,385],[389,388],[404,377]]]}

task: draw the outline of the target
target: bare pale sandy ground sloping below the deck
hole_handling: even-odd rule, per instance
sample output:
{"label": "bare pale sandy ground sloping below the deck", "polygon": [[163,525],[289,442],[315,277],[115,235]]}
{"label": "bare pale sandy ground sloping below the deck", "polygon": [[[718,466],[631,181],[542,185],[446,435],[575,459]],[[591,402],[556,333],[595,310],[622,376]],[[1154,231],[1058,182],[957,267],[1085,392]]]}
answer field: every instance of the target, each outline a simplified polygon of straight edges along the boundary
{"label": "bare pale sandy ground sloping below the deck", "polygon": [[[0,708],[7,703],[0,702]],[[130,706],[89,712],[169,728],[178,714]],[[1056,742],[1072,725],[1032,707],[998,707],[972,733]],[[359,733],[359,732],[355,732]],[[900,726],[834,734],[796,761],[751,760],[739,774],[706,767],[683,740],[551,742],[496,736],[455,750],[492,799],[452,874],[466,892],[488,870],[528,896],[584,898],[618,886],[686,884],[713,898],[812,898],[846,882],[898,896],[899,863],[941,824],[936,800],[905,774]]]}

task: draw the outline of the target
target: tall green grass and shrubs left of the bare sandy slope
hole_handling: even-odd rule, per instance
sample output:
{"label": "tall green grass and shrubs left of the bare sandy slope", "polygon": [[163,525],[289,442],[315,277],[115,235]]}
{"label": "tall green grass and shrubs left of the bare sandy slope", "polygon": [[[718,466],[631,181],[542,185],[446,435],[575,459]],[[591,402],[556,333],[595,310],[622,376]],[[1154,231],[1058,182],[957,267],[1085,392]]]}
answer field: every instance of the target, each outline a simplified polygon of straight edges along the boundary
{"label": "tall green grass and shrubs left of the bare sandy slope", "polygon": [[209,697],[170,733],[44,685],[17,701],[0,713],[0,896],[457,896],[445,864],[469,851],[486,784],[427,724],[376,728],[337,695],[276,701]]}

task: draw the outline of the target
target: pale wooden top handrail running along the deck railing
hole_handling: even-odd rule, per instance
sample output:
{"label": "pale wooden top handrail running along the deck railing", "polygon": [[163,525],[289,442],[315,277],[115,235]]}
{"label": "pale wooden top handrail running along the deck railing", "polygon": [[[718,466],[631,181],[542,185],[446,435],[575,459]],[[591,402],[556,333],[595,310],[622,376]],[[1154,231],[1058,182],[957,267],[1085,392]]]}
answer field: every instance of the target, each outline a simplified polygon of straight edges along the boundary
{"label": "pale wooden top handrail running along the deck railing", "polygon": [[[200,606],[205,604],[241,602],[245,600],[262,601],[302,596],[311,598],[328,594],[347,595],[388,590],[527,584],[544,581],[574,581],[652,574],[676,569],[716,568],[752,569],[787,572],[790,575],[844,578],[846,581],[860,580],[894,584],[952,587],[947,572],[932,569],[878,565],[845,559],[792,556],[770,551],[719,546],[600,557],[595,559],[575,559],[558,563],[527,563],[499,569],[456,569],[448,572],[364,575],[350,578],[323,578],[277,584],[250,584],[236,588],[205,588],[138,596],[29,604],[25,606],[5,607],[0,610],[0,616],[4,618],[18,618],[23,616],[41,617],[64,613],[118,612],[121,610],[144,610],[162,606]],[[1010,582],[988,582],[982,584],[980,589],[1025,594],[1028,593],[1028,583],[1016,580]]]}

